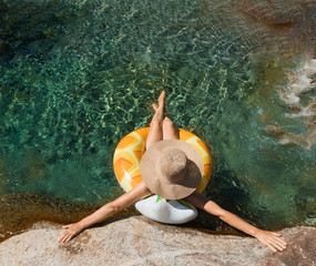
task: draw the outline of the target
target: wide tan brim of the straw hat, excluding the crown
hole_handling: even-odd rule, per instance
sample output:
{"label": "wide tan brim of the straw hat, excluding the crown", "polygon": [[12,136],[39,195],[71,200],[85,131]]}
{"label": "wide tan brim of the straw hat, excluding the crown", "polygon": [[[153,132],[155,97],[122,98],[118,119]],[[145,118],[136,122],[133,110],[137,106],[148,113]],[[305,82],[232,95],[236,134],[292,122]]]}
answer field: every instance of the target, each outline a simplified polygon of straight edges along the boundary
{"label": "wide tan brim of the straw hat, excluding the crown", "polygon": [[[179,183],[166,182],[157,166],[160,156],[171,147],[184,152],[188,162],[185,178]],[[180,200],[196,190],[203,176],[204,164],[202,156],[191,144],[180,140],[167,140],[153,144],[144,153],[140,168],[142,178],[152,193],[166,200]]]}

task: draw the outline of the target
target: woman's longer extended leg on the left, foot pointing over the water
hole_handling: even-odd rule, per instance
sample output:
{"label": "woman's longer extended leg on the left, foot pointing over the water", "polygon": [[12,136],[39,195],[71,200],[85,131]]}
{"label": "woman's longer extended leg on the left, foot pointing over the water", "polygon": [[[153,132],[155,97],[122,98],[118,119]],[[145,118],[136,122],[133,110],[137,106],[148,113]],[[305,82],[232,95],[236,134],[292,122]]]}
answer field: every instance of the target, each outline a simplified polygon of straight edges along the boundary
{"label": "woman's longer extended leg on the left, foot pointing over the water", "polygon": [[159,96],[159,105],[153,103],[155,114],[151,122],[151,129],[146,140],[146,150],[149,150],[155,142],[163,140],[164,100],[165,92],[163,91]]}

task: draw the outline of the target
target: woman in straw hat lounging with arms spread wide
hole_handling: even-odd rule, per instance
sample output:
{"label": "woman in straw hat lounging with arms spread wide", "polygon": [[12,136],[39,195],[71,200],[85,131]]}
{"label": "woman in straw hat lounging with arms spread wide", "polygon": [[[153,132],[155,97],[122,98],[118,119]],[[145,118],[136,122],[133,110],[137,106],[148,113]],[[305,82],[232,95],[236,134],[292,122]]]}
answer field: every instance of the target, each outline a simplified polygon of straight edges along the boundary
{"label": "woman in straw hat lounging with arms spread wide", "polygon": [[284,250],[287,243],[281,238],[281,234],[262,231],[195,192],[202,178],[202,158],[195,149],[179,140],[179,130],[164,115],[164,104],[165,92],[162,92],[159,96],[159,105],[153,104],[155,114],[146,140],[146,152],[141,161],[143,181],[132,191],[105,204],[80,222],[63,226],[65,231],[59,242],[67,243],[86,227],[104,221],[149,194],[156,194],[167,200],[183,198],[218,216],[231,226],[256,237],[273,252]]}

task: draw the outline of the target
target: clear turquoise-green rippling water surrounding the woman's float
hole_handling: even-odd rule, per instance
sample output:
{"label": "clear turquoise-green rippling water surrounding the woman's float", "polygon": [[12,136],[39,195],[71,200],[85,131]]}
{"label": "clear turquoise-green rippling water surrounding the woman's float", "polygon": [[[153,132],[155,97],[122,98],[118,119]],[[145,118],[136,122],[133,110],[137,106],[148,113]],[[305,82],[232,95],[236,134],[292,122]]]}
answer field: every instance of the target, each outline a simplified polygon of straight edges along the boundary
{"label": "clear turquoise-green rippling water surrounding the woman's float", "polygon": [[315,225],[316,14],[289,2],[1,1],[0,195],[121,195],[115,146],[165,90],[213,151],[208,196],[258,225]]}

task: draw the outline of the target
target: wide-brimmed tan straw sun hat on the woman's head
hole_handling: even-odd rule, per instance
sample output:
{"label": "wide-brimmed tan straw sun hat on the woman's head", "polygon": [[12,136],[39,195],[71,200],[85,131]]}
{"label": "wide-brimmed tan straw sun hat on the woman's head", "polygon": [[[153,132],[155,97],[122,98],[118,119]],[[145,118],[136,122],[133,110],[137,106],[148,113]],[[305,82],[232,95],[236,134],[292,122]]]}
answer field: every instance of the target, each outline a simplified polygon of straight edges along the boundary
{"label": "wide-brimmed tan straw sun hat on the woman's head", "polygon": [[180,140],[153,144],[141,161],[141,175],[150,191],[166,200],[192,194],[203,175],[203,160],[196,149]]}

